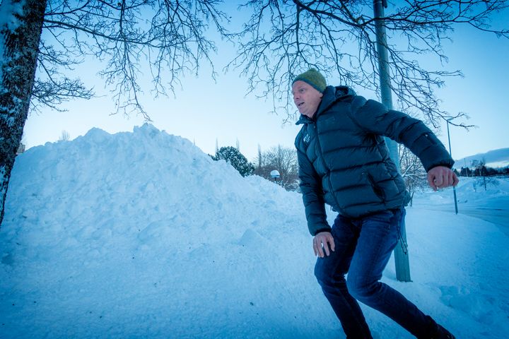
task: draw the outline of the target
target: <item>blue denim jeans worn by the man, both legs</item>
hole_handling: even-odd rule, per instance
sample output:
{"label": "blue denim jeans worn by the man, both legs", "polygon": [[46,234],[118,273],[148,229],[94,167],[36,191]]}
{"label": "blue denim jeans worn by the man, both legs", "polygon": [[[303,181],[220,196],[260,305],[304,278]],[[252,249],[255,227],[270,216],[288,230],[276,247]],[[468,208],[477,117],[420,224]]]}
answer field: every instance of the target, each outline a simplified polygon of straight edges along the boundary
{"label": "blue denim jeans worn by the man, both legs", "polygon": [[389,316],[416,337],[430,337],[430,318],[379,281],[397,244],[404,215],[402,208],[356,219],[338,215],[334,220],[336,249],[317,259],[315,275],[346,338],[372,338],[357,300]]}

